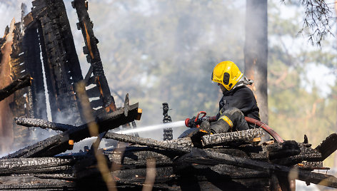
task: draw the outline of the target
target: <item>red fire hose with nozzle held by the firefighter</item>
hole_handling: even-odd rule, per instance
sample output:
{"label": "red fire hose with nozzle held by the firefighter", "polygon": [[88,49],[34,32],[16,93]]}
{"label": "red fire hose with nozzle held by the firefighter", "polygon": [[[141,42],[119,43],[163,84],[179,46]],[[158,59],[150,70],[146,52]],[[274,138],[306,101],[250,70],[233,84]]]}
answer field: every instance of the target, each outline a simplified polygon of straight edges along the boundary
{"label": "red fire hose with nozzle held by the firefighter", "polygon": [[[199,118],[199,116],[202,114],[202,116]],[[207,120],[208,122],[214,122],[216,121],[216,116],[206,116],[206,112],[204,111],[199,111],[198,115],[196,115],[195,118],[186,118],[185,120],[185,125],[188,128],[193,128],[196,127],[198,128],[200,126],[200,124],[204,121]],[[283,143],[283,139],[281,138],[280,135],[278,135],[276,133],[275,130],[273,130],[272,128],[270,128],[266,123],[262,123],[259,120],[256,120],[254,118],[249,118],[249,117],[245,117],[245,120],[247,121],[247,123],[251,123],[254,124],[260,128],[262,128],[263,130],[265,130],[269,135],[271,135],[271,137],[276,140],[276,142],[279,143]]]}

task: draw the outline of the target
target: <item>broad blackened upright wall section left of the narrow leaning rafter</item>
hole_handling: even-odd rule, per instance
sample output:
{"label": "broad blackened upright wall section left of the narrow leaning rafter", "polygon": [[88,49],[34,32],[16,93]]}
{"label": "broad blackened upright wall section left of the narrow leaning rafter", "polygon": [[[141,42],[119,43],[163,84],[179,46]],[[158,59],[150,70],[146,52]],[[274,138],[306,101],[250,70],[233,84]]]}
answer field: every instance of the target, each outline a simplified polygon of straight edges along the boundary
{"label": "broad blackened upright wall section left of the narrow leaning rafter", "polygon": [[53,121],[81,124],[74,86],[83,80],[66,9],[61,0],[33,1]]}

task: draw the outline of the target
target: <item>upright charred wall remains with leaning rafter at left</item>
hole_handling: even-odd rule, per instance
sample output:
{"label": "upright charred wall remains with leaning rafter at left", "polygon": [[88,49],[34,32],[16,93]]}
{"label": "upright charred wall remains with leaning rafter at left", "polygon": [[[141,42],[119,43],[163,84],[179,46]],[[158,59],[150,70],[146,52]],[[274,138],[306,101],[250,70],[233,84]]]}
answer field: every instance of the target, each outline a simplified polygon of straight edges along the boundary
{"label": "upright charred wall remains with leaning rafter at left", "polygon": [[[32,5],[31,12],[22,15],[18,23],[12,21],[4,37],[0,38],[0,81],[12,81],[27,74],[32,78],[29,88],[14,93],[13,101],[8,103],[11,108],[8,112],[14,116],[46,120],[49,111],[51,120],[56,123],[83,124],[85,116],[78,91],[86,92],[94,117],[116,110],[86,1],[72,2],[79,16],[77,27],[84,35],[83,51],[90,64],[85,77],[82,76],[64,2],[35,0]],[[82,90],[76,88],[79,82],[85,83]],[[14,124],[13,133],[9,134],[14,135],[16,147],[31,143],[31,132],[26,128]]]}

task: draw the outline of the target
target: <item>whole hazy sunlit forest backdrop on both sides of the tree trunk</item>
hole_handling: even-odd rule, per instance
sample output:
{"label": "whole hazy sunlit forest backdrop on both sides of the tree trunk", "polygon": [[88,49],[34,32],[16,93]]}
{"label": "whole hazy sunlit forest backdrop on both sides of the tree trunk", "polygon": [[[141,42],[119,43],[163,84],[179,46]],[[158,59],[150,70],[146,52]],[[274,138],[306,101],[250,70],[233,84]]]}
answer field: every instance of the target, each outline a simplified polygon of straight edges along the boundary
{"label": "whole hazy sunlit forest backdrop on both sides of the tree trunk", "polygon": [[[0,32],[21,21],[21,2],[0,1]],[[216,115],[221,92],[211,83],[213,66],[231,60],[244,71],[246,1],[89,0],[89,16],[116,105],[126,93],[143,109],[137,125],[162,123],[162,103],[173,121],[204,110]],[[297,1],[268,1],[268,125],[285,140],[316,148],[337,129],[336,16],[321,47],[308,41]],[[332,1],[333,2],[333,1]],[[65,0],[84,75],[89,68],[71,0]],[[266,82],[267,83],[267,82]],[[177,138],[186,128],[173,129]],[[163,138],[162,130],[140,133]],[[336,167],[335,154],[324,161]]]}

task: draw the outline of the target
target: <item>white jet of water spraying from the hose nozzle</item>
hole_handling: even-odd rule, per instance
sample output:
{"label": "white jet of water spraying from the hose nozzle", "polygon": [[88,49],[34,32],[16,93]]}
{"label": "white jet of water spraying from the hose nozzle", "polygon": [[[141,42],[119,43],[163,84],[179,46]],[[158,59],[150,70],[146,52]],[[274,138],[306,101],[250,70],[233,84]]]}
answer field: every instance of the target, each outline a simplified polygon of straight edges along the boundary
{"label": "white jet of water spraying from the hose nozzle", "polygon": [[184,127],[185,126],[185,120],[179,120],[172,123],[161,123],[159,125],[149,125],[145,127],[137,127],[130,130],[119,130],[115,133],[119,134],[129,134],[129,133],[137,133],[137,132],[143,132],[148,130],[156,130],[156,129],[164,129],[164,128],[178,128],[178,127]]}

